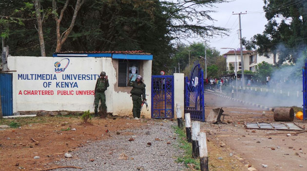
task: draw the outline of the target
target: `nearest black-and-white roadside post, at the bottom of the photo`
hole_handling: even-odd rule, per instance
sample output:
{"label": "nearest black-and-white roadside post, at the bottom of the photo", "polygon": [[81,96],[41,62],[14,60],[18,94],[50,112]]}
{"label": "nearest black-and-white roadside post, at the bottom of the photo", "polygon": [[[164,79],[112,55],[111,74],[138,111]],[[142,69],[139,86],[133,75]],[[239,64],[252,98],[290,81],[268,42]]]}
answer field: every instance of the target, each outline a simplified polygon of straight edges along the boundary
{"label": "nearest black-and-white roadside post, at the bottom of the photo", "polygon": [[199,132],[198,144],[199,144],[199,157],[200,157],[200,171],[209,171],[206,132]]}

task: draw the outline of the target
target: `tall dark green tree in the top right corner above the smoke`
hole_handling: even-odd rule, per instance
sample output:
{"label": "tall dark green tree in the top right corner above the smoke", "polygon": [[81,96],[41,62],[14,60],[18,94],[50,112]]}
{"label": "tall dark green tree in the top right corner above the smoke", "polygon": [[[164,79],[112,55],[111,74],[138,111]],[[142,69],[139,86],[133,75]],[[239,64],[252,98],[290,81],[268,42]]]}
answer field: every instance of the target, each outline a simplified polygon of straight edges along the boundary
{"label": "tall dark green tree in the top right corner above the smoke", "polygon": [[[306,0],[264,0],[268,23],[263,34],[253,36],[251,42],[260,55],[279,54],[278,64],[286,60],[296,63],[307,43]],[[280,22],[276,20],[281,20]]]}

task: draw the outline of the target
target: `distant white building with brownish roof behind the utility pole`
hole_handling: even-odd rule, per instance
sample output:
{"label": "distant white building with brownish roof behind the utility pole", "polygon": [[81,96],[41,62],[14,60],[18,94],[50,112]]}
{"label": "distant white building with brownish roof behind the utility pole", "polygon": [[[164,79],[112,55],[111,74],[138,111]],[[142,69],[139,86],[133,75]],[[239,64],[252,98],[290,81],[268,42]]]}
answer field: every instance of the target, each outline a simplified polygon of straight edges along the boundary
{"label": "distant white building with brownish roof behind the utility pole", "polygon": [[[229,69],[229,64],[232,64],[232,66],[235,66],[235,62],[237,62],[237,70],[242,69],[241,65],[241,55],[240,51],[229,51],[224,54],[226,57],[226,63],[227,63],[227,69]],[[237,58],[237,59],[236,59]],[[269,58],[265,56],[260,56],[257,51],[253,50],[244,50],[243,51],[243,58],[244,58],[244,70],[250,70],[255,71],[255,66],[259,63],[262,63],[263,61],[275,65],[278,62],[278,59],[276,58],[276,55],[271,53]]]}

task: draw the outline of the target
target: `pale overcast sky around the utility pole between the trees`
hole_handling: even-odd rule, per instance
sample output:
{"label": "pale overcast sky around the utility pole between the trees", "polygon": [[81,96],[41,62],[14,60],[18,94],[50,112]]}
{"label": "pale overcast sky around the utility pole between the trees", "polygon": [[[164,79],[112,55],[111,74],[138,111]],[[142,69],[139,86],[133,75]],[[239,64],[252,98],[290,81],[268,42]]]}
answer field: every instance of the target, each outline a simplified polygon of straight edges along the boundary
{"label": "pale overcast sky around the utility pole between the trees", "polygon": [[[264,2],[263,0],[234,0],[228,3],[220,3],[215,5],[216,8],[212,10],[216,11],[211,13],[211,17],[215,26],[221,26],[229,28],[229,36],[219,36],[216,38],[208,38],[206,41],[211,47],[215,47],[221,52],[221,54],[228,52],[227,49],[221,49],[221,47],[239,48],[240,40],[238,39],[237,30],[239,29],[238,15],[232,15],[234,13],[245,13],[241,15],[242,37],[246,37],[249,40],[253,35],[262,33],[265,28],[265,24],[268,22],[263,12]],[[189,39],[190,42],[203,42],[203,39]]]}

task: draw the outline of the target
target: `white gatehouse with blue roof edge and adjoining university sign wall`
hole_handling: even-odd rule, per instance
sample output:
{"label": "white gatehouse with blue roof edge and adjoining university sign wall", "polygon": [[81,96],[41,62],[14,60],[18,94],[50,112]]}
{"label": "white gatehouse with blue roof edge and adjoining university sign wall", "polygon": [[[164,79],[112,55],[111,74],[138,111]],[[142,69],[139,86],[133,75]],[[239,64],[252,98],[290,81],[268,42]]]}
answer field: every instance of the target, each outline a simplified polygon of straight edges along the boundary
{"label": "white gatehouse with blue roof edge and adjoining university sign wall", "polygon": [[[13,112],[94,111],[94,89],[101,71],[108,75],[107,112],[132,115],[132,99],[127,87],[131,75],[141,75],[151,104],[153,55],[140,51],[59,53],[54,57],[9,56],[13,73]],[[151,107],[151,106],[149,106]],[[141,115],[151,117],[149,111]]]}

